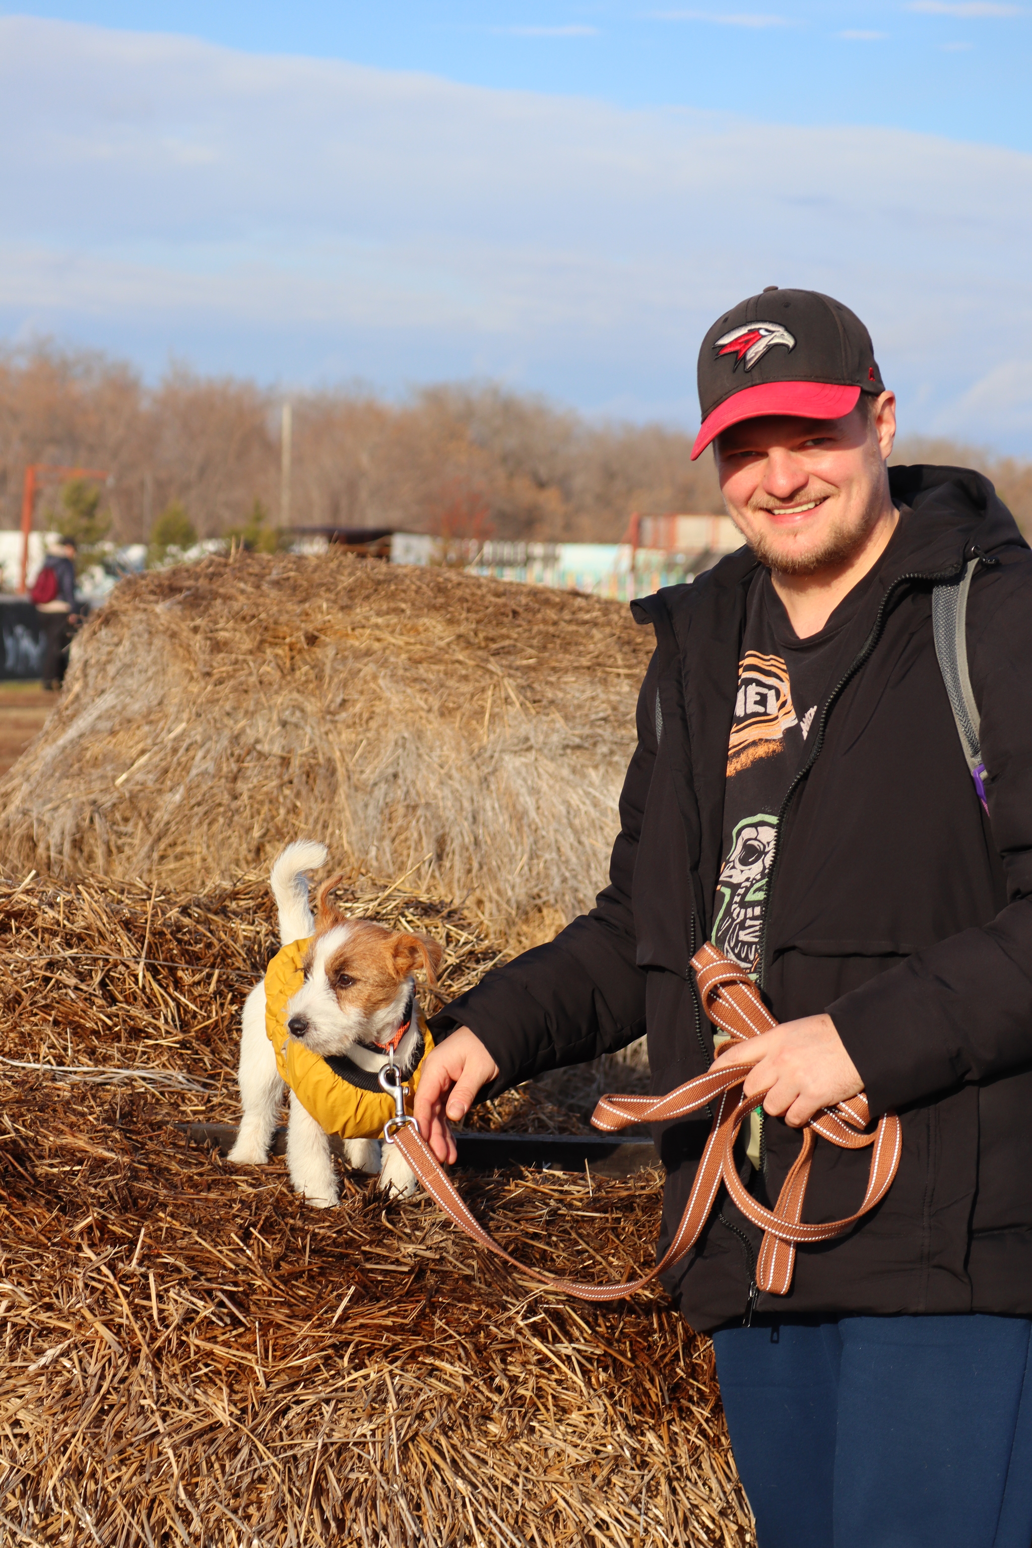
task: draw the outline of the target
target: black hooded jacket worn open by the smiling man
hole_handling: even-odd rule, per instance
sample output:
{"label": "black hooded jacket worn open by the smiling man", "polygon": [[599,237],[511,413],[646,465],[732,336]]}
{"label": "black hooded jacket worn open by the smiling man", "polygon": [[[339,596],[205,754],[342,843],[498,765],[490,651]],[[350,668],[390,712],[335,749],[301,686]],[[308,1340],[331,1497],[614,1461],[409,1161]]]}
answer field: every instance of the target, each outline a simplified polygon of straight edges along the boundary
{"label": "black hooded jacket worn open by the smiling man", "polygon": [[[896,467],[911,509],[854,621],[780,825],[763,991],[780,1020],[828,1011],[871,1108],[899,1110],[888,1197],[851,1232],[800,1248],[788,1297],[760,1311],[1032,1314],[1032,553],[992,485]],[[981,551],[969,653],[989,820],[961,752],[931,635],[931,587]],[[741,550],[695,585],[634,604],[656,628],[620,800],[611,881],[589,915],[453,1002],[501,1071],[486,1094],[648,1031],[653,1091],[699,1074],[712,1028],[689,958],[709,938],[746,594]],[[656,737],[656,697],[661,737]],[[665,1125],[661,1248],[709,1122]],[[800,1136],[766,1121],[766,1203]],[[870,1152],[818,1141],[806,1218],[853,1214]],[[746,1163],[747,1164],[747,1163]],[[743,1316],[760,1234],[726,1194],[668,1277],[701,1330]]]}

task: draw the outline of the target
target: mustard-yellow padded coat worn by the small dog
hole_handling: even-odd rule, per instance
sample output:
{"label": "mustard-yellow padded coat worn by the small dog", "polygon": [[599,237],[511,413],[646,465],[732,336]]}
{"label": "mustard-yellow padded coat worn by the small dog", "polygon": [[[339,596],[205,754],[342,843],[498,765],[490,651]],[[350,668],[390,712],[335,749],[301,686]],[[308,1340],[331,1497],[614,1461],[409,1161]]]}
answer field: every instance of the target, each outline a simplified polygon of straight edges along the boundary
{"label": "mustard-yellow padded coat worn by the small dog", "polygon": [[[385,1091],[362,1091],[333,1070],[322,1054],[305,1048],[286,1031],[286,1005],[305,981],[303,961],[313,937],[283,946],[265,974],[265,1031],[275,1050],[275,1068],[306,1113],[328,1135],[343,1139],[379,1139],[384,1124],[395,1116],[395,1098]],[[416,1009],[416,1026],[422,1034],[422,1057],[407,1084],[415,1091],[433,1039]]]}

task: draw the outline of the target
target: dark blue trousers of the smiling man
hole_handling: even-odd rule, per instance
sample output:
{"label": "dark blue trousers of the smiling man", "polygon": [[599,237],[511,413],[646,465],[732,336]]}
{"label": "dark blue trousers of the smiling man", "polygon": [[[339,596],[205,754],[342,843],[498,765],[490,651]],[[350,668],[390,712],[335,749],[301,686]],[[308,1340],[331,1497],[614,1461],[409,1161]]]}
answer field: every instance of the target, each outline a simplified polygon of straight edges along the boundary
{"label": "dark blue trousers of the smiling man", "polygon": [[760,1548],[1029,1548],[1032,1320],[713,1334]]}

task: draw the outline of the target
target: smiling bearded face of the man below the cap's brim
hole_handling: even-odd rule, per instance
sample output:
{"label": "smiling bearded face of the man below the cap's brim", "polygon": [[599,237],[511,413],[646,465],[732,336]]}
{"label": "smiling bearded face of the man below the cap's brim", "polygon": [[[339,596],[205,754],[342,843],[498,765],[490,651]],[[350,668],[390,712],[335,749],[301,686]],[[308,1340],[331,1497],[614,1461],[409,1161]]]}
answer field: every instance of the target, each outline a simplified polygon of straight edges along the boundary
{"label": "smiling bearded face of the man below the cap's brim", "polygon": [[818,574],[846,563],[891,511],[885,460],[896,396],[842,420],[767,416],[716,438],[716,471],[735,526],[761,563]]}

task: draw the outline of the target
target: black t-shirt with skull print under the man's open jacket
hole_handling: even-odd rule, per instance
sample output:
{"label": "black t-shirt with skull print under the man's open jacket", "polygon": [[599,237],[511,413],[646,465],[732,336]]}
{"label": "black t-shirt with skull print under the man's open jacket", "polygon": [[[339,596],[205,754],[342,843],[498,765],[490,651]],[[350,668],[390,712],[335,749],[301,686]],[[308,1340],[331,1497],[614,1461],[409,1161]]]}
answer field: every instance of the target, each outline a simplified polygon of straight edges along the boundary
{"label": "black t-shirt with skull print under the man's open jacket", "polygon": [[778,811],[806,759],[823,703],[849,664],[853,641],[843,636],[853,633],[849,624],[871,584],[865,576],[808,639],[792,628],[767,570],[749,588],[712,937],[749,972],[758,968]]}

